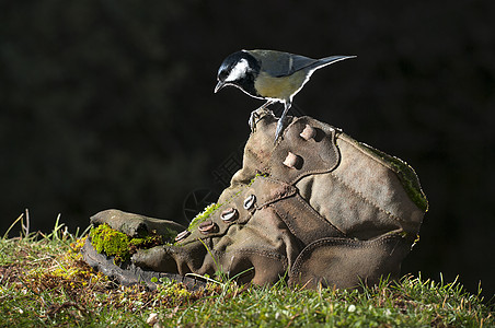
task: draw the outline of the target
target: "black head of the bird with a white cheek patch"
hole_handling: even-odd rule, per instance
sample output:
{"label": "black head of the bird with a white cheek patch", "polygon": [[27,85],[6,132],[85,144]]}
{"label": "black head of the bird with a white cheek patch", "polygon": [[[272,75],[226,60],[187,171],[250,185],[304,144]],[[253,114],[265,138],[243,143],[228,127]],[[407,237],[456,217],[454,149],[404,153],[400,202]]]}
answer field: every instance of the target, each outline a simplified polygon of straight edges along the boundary
{"label": "black head of the bird with a white cheek patch", "polygon": [[252,93],[254,78],[258,72],[260,63],[251,54],[245,50],[233,52],[223,60],[218,69],[215,93],[226,85],[238,86],[244,92]]}

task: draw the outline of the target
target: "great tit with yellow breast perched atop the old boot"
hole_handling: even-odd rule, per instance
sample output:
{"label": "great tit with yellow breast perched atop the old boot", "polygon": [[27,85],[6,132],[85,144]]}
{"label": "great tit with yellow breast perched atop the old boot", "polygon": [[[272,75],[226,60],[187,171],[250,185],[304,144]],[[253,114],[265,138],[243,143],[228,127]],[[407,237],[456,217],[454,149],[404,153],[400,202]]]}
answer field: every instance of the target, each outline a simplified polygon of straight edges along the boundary
{"label": "great tit with yellow breast perched atop the old boot", "polygon": [[284,132],[286,116],[293,96],[309,81],[311,74],[327,65],[356,56],[331,56],[322,59],[312,59],[300,55],[274,50],[241,50],[229,55],[217,74],[215,93],[226,85],[233,85],[248,95],[266,99],[258,109],[251,113],[250,126],[254,127],[254,116],[260,109],[274,103],[284,104],[275,142]]}

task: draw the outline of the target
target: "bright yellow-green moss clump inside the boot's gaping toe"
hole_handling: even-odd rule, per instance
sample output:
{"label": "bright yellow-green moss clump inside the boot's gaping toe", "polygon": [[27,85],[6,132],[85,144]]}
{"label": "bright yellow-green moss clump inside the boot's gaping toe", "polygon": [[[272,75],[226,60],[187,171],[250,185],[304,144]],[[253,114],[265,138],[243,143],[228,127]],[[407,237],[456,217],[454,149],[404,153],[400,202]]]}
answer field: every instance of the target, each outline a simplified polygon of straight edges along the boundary
{"label": "bright yellow-green moss clump inside the boot's gaping toe", "polygon": [[113,230],[107,224],[101,224],[90,231],[91,245],[97,253],[104,253],[114,257],[115,263],[125,262],[138,249],[151,248],[165,244],[165,237],[161,235],[149,235],[131,238],[128,235]]}

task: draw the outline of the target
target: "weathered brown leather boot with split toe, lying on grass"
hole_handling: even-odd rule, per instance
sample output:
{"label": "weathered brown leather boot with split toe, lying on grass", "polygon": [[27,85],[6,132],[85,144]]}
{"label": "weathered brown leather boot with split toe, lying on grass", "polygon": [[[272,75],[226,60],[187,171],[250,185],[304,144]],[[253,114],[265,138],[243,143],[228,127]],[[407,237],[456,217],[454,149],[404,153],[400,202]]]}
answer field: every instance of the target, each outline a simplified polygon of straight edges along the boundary
{"label": "weathered brown leather boot with split toe, lying on grass", "polygon": [[[412,167],[310,117],[293,118],[274,147],[276,126],[264,115],[218,202],[173,245],[138,250],[133,263],[181,276],[223,272],[255,284],[284,278],[308,288],[395,278],[427,210]],[[180,229],[129,215],[111,210],[91,221],[126,234]]]}

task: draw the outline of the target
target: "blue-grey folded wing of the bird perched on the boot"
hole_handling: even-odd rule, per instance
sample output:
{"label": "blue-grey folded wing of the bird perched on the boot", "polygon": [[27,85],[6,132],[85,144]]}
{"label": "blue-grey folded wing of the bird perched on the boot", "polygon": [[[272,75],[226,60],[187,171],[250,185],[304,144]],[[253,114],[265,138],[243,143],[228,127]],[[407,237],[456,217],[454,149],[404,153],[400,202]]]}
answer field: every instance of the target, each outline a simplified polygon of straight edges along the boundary
{"label": "blue-grey folded wing of the bird perched on the boot", "polygon": [[281,78],[318,62],[316,59],[275,50],[246,50],[260,62],[263,71]]}

